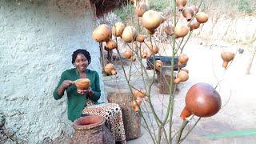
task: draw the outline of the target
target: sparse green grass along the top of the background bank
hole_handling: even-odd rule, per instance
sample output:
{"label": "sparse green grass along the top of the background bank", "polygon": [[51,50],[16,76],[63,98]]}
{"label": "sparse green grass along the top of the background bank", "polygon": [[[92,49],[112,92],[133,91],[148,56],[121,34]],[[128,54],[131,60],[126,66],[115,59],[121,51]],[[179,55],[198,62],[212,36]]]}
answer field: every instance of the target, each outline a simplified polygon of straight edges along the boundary
{"label": "sparse green grass along the top of the background bank", "polygon": [[[164,11],[170,7],[171,0],[149,0],[150,9],[157,11]],[[198,5],[200,0],[189,0],[186,6]],[[256,11],[256,0],[203,0],[201,7],[202,11],[214,11],[221,14],[246,14],[254,13]],[[134,6],[127,4],[114,10],[122,22],[130,21],[134,18]]]}

